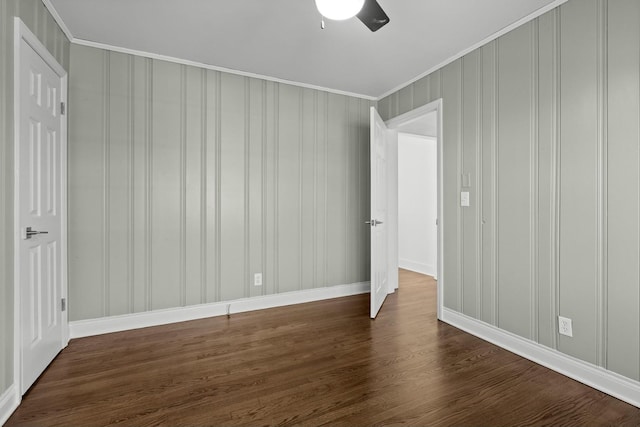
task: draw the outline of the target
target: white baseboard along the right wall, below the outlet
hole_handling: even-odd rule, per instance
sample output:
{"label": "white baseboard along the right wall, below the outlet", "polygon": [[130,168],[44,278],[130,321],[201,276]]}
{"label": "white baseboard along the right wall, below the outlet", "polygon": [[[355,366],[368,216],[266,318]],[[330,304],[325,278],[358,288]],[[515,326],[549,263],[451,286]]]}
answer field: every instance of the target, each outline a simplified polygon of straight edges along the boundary
{"label": "white baseboard along the right wall, below the outlet", "polygon": [[568,356],[448,308],[443,309],[441,320],[525,359],[640,407],[640,382],[638,381]]}

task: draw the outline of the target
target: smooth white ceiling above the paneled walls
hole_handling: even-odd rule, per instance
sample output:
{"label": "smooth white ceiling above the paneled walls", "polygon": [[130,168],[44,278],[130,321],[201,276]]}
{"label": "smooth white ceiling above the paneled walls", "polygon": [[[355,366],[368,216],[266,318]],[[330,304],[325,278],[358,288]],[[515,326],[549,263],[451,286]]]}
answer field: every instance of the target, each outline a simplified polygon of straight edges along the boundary
{"label": "smooth white ceiling above the paneled walls", "polygon": [[48,0],[74,40],[377,98],[554,0],[378,0],[391,22],[326,21],[314,0]]}

